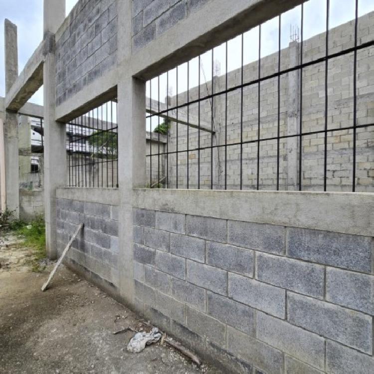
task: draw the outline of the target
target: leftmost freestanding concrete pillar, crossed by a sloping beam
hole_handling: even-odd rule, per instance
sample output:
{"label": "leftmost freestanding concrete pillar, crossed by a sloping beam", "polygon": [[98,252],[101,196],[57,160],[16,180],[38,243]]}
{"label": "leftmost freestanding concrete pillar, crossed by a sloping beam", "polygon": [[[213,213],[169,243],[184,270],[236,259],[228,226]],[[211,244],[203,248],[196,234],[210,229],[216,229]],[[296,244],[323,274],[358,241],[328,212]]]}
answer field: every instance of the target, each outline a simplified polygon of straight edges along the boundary
{"label": "leftmost freestanding concrete pillar, crossed by a sloping beam", "polygon": [[[17,26],[8,19],[4,21],[5,35],[5,94],[18,77]],[[5,201],[13,211],[14,219],[19,218],[19,176],[18,176],[18,119],[17,114],[6,111],[3,124],[5,155]]]}

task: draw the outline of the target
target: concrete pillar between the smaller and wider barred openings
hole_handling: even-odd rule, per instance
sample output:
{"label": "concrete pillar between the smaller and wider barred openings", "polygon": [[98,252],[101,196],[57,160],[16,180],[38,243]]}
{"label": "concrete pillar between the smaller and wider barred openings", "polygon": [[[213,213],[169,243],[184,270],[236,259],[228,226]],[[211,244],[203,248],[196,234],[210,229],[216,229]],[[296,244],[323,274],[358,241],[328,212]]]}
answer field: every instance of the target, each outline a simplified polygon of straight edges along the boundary
{"label": "concrete pillar between the smaller and wider barred openings", "polygon": [[[118,2],[118,51],[131,55],[132,1]],[[124,72],[126,69],[123,70]],[[118,183],[120,191],[120,292],[122,300],[137,309],[133,278],[133,188],[146,186],[146,85],[120,74],[118,90]]]}

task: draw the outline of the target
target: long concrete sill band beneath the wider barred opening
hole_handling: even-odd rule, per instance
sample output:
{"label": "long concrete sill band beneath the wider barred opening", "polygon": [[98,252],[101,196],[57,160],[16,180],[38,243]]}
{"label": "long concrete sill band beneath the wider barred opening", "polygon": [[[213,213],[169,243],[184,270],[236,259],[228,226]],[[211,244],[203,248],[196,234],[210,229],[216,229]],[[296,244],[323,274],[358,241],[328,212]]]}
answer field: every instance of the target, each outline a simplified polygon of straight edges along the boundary
{"label": "long concrete sill band beneath the wider barred opening", "polygon": [[374,193],[135,189],[135,207],[374,235]]}

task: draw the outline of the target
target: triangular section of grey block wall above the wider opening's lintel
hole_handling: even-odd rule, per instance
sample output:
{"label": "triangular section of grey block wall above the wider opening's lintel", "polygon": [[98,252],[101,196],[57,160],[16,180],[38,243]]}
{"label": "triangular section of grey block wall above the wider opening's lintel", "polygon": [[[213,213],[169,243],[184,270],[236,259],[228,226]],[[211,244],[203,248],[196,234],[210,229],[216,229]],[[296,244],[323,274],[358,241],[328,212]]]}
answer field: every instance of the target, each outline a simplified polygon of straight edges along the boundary
{"label": "triangular section of grey block wall above the wider opening's lintel", "polygon": [[211,0],[133,0],[133,51],[137,51]]}

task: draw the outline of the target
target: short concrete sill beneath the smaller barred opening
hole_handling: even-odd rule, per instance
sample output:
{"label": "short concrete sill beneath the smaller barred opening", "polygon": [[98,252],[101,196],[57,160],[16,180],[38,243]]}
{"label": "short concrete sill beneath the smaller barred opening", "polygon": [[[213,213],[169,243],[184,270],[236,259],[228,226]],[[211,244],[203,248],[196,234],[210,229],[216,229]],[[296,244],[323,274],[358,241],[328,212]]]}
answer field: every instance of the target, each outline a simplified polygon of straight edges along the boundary
{"label": "short concrete sill beneath the smaller barred opening", "polygon": [[61,187],[56,189],[56,198],[98,202],[108,205],[119,205],[120,203],[118,188]]}

